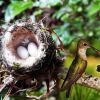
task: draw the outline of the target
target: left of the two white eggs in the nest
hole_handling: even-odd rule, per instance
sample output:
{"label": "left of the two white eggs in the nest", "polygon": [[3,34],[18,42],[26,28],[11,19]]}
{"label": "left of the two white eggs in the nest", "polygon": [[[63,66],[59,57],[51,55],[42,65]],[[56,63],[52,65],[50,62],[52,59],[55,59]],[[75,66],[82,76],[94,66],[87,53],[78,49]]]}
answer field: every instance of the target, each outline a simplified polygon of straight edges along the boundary
{"label": "left of the two white eggs in the nest", "polygon": [[26,59],[29,56],[27,49],[23,46],[19,46],[17,48],[17,54],[22,59]]}

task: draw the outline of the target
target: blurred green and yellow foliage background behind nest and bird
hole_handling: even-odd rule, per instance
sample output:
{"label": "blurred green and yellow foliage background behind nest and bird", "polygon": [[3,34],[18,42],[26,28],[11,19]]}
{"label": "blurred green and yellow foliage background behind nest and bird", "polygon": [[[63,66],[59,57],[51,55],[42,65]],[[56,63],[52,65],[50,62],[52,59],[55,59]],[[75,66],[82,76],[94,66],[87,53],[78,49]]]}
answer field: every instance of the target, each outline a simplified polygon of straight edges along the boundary
{"label": "blurred green and yellow foliage background behind nest and bird", "polygon": [[[0,0],[2,27],[6,23],[25,17],[38,22],[47,15],[47,27],[53,28],[60,36],[69,55],[65,66],[70,66],[74,57],[77,42],[77,39],[73,41],[74,38],[87,38],[94,47],[100,49],[100,0]],[[57,37],[53,35],[53,38],[59,44]],[[86,73],[100,77],[100,73],[96,71],[99,64],[100,57],[89,50]],[[40,92],[30,94],[41,94]],[[0,100],[2,96],[1,93]],[[60,98],[66,100],[65,92],[61,93]],[[14,97],[11,99],[15,100]],[[68,100],[100,100],[100,93],[94,89],[75,85]]]}

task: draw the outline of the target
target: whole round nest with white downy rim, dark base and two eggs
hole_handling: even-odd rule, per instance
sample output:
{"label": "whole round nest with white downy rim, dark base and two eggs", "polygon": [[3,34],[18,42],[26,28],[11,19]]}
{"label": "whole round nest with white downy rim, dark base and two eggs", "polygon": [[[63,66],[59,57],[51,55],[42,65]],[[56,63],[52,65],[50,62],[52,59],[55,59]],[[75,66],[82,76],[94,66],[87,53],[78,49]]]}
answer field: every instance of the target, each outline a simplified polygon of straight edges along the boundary
{"label": "whole round nest with white downy rim, dark base and two eggs", "polygon": [[51,33],[52,30],[42,23],[32,23],[30,20],[16,21],[2,32],[2,62],[12,77],[8,83],[4,79],[5,86],[12,87],[12,91],[31,87],[37,90],[44,81],[47,91],[51,81],[58,86],[63,57]]}

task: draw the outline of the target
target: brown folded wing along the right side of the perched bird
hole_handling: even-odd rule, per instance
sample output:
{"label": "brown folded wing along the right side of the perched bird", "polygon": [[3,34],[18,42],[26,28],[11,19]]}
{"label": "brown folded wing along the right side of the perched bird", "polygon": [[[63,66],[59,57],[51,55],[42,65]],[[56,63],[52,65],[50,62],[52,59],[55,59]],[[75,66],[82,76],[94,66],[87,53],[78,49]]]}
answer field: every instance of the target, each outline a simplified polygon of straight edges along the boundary
{"label": "brown folded wing along the right side of the perched bird", "polygon": [[81,68],[79,68],[75,75],[68,81],[68,83],[65,86],[66,88],[70,87],[82,76],[82,74],[85,72],[86,66],[87,62],[84,62],[84,65]]}

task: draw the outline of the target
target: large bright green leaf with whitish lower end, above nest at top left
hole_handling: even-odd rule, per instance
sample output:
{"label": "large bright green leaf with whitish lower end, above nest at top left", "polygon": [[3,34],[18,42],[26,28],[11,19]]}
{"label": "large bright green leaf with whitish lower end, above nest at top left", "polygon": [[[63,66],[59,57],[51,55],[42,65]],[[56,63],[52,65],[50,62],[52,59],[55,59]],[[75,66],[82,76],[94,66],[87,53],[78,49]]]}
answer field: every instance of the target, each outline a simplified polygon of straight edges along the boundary
{"label": "large bright green leaf with whitish lower end, above nest at top left", "polygon": [[32,7],[33,2],[31,0],[24,2],[24,1],[15,1],[8,5],[5,11],[5,21],[9,22],[18,14],[22,13],[28,8]]}

